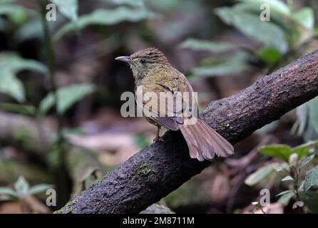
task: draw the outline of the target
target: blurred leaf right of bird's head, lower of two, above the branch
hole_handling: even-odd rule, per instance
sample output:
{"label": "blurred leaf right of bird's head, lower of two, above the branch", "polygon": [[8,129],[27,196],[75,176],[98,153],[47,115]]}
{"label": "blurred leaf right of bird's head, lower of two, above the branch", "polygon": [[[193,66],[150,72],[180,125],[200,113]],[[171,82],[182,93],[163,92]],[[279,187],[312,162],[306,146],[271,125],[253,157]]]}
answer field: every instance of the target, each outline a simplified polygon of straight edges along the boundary
{"label": "blurred leaf right of bird's head, lower of two, above the branch", "polygon": [[211,65],[195,67],[191,73],[193,76],[199,77],[229,76],[242,73],[251,69],[247,64],[247,58],[246,53],[236,53],[235,56],[227,58],[221,63],[217,61]]}

